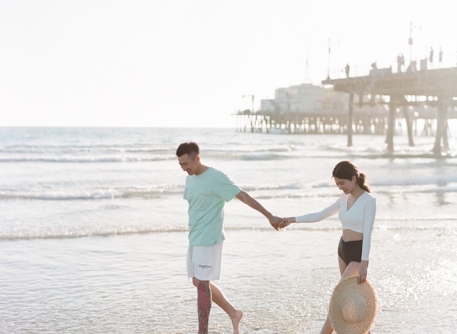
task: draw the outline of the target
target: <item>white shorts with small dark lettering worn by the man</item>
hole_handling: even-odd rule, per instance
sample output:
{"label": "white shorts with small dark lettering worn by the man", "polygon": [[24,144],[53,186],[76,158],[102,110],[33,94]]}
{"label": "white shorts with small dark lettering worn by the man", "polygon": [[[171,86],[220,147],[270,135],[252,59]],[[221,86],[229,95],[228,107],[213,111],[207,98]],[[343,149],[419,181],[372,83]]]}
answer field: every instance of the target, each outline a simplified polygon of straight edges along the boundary
{"label": "white shorts with small dark lettering worn by the man", "polygon": [[199,280],[219,280],[221,278],[222,245],[189,246],[187,251],[187,275]]}

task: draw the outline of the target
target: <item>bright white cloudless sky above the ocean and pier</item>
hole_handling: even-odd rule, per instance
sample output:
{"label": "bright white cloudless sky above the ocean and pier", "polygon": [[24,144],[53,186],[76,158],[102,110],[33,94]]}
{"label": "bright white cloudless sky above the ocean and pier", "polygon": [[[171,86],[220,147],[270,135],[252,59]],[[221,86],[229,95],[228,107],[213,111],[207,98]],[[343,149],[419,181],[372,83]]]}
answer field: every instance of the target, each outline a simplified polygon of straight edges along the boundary
{"label": "bright white cloudless sky above the ocean and pier", "polygon": [[[443,49],[457,1],[0,0],[0,126],[234,127],[276,88]],[[308,66],[306,66],[308,63]]]}

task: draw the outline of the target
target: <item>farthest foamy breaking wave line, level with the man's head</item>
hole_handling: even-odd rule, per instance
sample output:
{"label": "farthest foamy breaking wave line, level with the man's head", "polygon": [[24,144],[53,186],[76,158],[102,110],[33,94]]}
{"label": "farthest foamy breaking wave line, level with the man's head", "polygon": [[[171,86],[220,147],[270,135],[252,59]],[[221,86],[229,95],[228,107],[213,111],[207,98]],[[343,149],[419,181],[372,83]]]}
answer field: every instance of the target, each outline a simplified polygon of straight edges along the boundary
{"label": "farthest foamy breaking wave line, level with the man's head", "polygon": [[[0,146],[0,162],[46,162],[46,163],[109,163],[166,161],[176,159],[175,146],[130,144],[94,146],[56,146],[56,145],[11,145]],[[271,161],[291,158],[434,158],[428,146],[416,146],[389,153],[384,146],[351,147],[338,145],[309,146],[306,143],[281,143],[252,146],[228,144],[226,146],[207,146],[202,152],[207,158],[240,161]],[[446,158],[457,158],[450,154]]]}

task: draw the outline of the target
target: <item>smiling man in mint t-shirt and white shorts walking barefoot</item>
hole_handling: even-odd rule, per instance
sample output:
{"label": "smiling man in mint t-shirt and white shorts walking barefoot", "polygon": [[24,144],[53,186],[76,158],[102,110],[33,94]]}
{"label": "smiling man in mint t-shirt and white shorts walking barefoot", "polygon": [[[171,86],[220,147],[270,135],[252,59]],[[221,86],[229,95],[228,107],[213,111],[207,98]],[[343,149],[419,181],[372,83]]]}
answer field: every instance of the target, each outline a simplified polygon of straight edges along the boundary
{"label": "smiling man in mint t-shirt and white shorts walking barefoot", "polygon": [[197,288],[199,334],[208,333],[211,301],[219,305],[231,318],[233,333],[239,333],[243,311],[237,310],[211,280],[221,275],[222,244],[224,243],[224,204],[236,197],[268,218],[278,230],[282,219],[266,211],[258,201],[236,186],[228,176],[201,163],[196,143],[181,143],[176,150],[179,165],[186,178],[184,199],[189,202],[189,251],[187,274]]}

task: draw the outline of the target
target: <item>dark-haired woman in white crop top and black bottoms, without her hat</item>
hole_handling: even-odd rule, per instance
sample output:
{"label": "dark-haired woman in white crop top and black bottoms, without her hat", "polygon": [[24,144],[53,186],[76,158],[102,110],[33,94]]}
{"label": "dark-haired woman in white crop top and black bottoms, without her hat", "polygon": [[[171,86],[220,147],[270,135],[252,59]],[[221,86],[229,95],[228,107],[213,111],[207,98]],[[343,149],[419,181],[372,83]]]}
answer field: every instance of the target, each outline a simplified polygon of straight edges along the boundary
{"label": "dark-haired woman in white crop top and black bottoms, without her hat", "polygon": [[[343,224],[343,235],[338,245],[338,264],[341,280],[358,275],[358,283],[366,281],[371,231],[376,215],[376,199],[366,185],[366,175],[359,173],[351,161],[341,161],[332,173],[336,186],[343,191],[338,201],[318,213],[284,218],[280,228],[290,223],[314,223],[338,213]],[[333,332],[330,318],[326,319],[321,334]]]}

